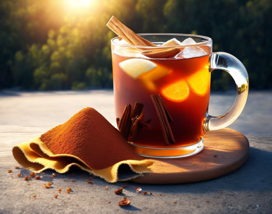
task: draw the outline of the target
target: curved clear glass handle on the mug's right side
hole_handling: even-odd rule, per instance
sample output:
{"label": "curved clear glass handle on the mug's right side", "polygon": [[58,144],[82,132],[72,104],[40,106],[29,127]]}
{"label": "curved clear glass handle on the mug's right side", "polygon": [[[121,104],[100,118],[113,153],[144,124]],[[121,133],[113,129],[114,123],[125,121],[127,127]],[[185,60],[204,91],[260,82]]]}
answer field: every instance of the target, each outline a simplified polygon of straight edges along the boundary
{"label": "curved clear glass handle on the mug's right side", "polygon": [[234,79],[237,87],[236,99],[230,111],[222,116],[210,116],[206,112],[204,118],[204,131],[225,128],[236,120],[241,114],[248,94],[248,74],[245,66],[236,57],[224,52],[216,52],[209,57],[209,72],[221,69],[228,72]]}

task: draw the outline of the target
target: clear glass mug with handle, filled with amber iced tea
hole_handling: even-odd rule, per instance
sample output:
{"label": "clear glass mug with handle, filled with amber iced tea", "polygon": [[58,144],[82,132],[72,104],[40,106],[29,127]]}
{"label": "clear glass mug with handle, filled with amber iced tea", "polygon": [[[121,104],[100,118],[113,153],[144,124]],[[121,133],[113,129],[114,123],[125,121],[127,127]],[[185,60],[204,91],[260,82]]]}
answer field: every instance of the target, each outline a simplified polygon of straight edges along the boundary
{"label": "clear glass mug with handle, filled with amber iced tea", "polygon": [[[248,94],[247,70],[230,54],[212,53],[212,39],[206,36],[139,35],[158,47],[128,45],[120,37],[111,40],[116,118],[124,119],[126,105],[131,105],[132,112],[135,102],[142,103],[141,121],[148,125],[141,127],[141,131],[137,129],[135,137],[127,138],[139,155],[155,158],[195,155],[203,149],[207,131],[229,126],[242,112]],[[176,40],[168,43],[171,46],[165,46],[173,38]],[[142,54],[145,50],[163,48],[179,48],[180,52],[172,58],[157,59]],[[228,72],[237,87],[232,108],[222,116],[208,114],[214,69]]]}

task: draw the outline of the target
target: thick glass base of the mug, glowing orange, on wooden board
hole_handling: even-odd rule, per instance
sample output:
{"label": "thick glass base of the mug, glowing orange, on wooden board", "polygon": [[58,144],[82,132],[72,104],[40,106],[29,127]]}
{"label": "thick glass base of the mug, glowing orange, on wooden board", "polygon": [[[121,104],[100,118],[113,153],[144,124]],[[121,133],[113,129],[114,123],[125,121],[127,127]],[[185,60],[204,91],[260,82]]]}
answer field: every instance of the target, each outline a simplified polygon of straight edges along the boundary
{"label": "thick glass base of the mug, glowing orange, on wooden board", "polygon": [[128,142],[130,146],[143,157],[153,158],[181,158],[189,157],[199,153],[203,149],[203,138],[190,146],[175,147],[175,148],[155,148],[155,147],[143,147]]}

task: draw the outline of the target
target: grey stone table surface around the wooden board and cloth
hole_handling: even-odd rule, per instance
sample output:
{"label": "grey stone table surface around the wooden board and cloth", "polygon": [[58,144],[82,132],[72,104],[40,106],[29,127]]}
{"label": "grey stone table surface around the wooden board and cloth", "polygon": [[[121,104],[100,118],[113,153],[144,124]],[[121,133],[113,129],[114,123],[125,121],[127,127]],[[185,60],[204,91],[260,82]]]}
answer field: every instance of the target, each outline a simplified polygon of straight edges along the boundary
{"label": "grey stone table surface around the wooden board and cloth", "polygon": [[[226,113],[235,93],[212,93],[209,113]],[[21,166],[15,169],[18,164],[12,147],[65,122],[87,106],[115,126],[113,90],[0,92],[0,213],[272,213],[272,91],[250,91],[242,114],[229,126],[247,136],[250,154],[242,167],[222,177],[176,185],[126,182],[128,187],[121,195],[115,195],[114,190],[125,182],[109,184],[95,177],[93,185],[87,184],[81,175],[90,175],[76,168],[54,178],[51,170],[41,173],[41,180],[18,178],[17,174],[27,176],[29,171]],[[72,173],[77,182],[70,181]],[[53,188],[43,188],[49,181]],[[136,193],[136,186],[152,195]],[[59,188],[69,187],[73,190],[70,194],[62,191],[54,198]],[[124,196],[131,205],[119,207],[117,203]]]}

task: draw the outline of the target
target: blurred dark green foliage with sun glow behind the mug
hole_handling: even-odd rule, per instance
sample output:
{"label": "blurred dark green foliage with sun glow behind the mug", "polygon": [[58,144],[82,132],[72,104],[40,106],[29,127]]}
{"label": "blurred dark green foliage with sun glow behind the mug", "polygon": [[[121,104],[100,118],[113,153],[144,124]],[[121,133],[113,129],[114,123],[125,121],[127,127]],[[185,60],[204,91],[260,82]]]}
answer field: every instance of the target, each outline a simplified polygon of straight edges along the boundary
{"label": "blurred dark green foliage with sun glow behind the mug", "polygon": [[[209,36],[243,62],[250,88],[272,88],[270,0],[1,0],[0,88],[112,87],[112,15],[136,33]],[[213,72],[213,90],[230,85]]]}

